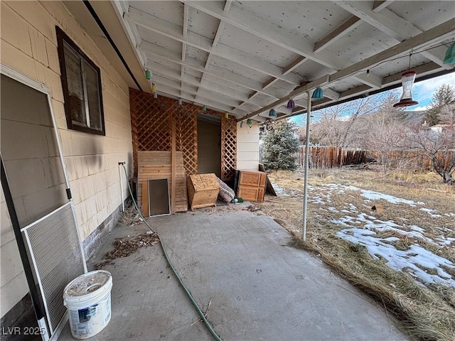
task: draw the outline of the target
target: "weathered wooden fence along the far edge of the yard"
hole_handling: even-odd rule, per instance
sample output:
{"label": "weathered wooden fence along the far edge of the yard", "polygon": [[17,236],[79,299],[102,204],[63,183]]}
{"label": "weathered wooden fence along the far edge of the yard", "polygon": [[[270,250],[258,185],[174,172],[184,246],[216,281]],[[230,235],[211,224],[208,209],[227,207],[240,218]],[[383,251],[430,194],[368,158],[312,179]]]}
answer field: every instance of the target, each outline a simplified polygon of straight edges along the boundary
{"label": "weathered wooden fence along the far edge of the yard", "polygon": [[[294,153],[296,163],[304,167],[305,146],[299,147],[299,151]],[[444,165],[444,171],[449,171],[454,164],[455,151],[439,153],[437,158]],[[312,168],[335,168],[347,165],[360,165],[376,161],[380,163],[381,155],[379,151],[362,151],[358,149],[337,148],[337,147],[311,147],[310,166]],[[397,164],[407,161],[408,164],[421,169],[432,169],[432,160],[419,151],[390,151],[387,153],[387,162]]]}

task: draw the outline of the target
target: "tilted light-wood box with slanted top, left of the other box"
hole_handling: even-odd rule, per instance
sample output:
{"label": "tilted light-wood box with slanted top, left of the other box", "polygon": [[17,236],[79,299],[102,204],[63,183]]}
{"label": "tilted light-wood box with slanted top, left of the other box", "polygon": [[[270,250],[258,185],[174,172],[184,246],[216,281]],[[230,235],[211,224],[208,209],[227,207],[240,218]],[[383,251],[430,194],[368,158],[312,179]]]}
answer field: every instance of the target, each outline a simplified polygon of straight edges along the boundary
{"label": "tilted light-wood box with slanted top, left of the other box", "polygon": [[220,183],[213,173],[193,174],[188,177],[188,202],[191,210],[200,207],[216,206]]}

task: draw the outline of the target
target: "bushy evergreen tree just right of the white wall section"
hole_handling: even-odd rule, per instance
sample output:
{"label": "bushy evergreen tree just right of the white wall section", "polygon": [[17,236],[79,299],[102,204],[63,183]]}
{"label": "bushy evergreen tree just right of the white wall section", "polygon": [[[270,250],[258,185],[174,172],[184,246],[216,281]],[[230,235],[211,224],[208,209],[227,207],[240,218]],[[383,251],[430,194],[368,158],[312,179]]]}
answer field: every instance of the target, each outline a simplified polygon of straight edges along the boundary
{"label": "bushy evergreen tree just right of the white wall section", "polygon": [[264,167],[266,169],[284,169],[294,171],[296,161],[292,153],[299,147],[299,139],[294,136],[295,124],[281,120],[274,121],[273,130],[266,131],[262,144],[264,146]]}

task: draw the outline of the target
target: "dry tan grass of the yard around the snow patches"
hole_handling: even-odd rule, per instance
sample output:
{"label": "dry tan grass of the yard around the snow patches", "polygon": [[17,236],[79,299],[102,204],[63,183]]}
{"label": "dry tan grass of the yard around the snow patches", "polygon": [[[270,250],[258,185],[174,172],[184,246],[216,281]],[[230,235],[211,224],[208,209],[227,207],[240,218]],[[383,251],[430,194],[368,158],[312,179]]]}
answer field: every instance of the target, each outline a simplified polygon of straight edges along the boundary
{"label": "dry tan grass of the yard around the snow patches", "polygon": [[[336,236],[336,232],[345,228],[331,220],[346,216],[343,209],[349,203],[359,212],[374,215],[383,221],[394,221],[406,226],[417,225],[425,229],[425,237],[436,239],[455,237],[454,216],[442,214],[437,220],[428,212],[419,210],[425,207],[438,213],[455,212],[455,186],[444,185],[433,173],[393,173],[382,175],[373,171],[358,170],[311,170],[309,184],[314,186],[311,195],[317,195],[318,186],[336,183],[353,185],[365,190],[373,190],[395,197],[401,197],[425,205],[412,207],[407,204],[392,204],[386,200],[375,200],[374,204],[384,206],[384,212],[371,212],[371,202],[365,203],[365,197],[358,190],[344,190],[343,193],[331,193],[330,203],[321,204],[309,201],[307,220],[307,239],[301,240],[302,195],[304,173],[278,171],[269,174],[272,183],[284,188],[289,196],[271,197],[258,207],[267,215],[287,228],[294,236],[292,245],[319,254],[321,259],[332,269],[345,277],[350,283],[370,294],[380,305],[385,305],[399,318],[412,337],[418,340],[455,340],[455,290],[450,286],[423,286],[404,271],[394,271],[385,265],[385,261],[376,261],[368,254],[365,247],[352,244]],[[323,190],[321,188],[321,190]],[[336,192],[336,191],[335,191]],[[330,207],[336,210],[321,210]],[[405,228],[406,229],[406,228]],[[455,263],[454,244],[435,245],[415,237],[404,236],[396,232],[380,232],[378,237],[398,237],[397,249],[407,250],[412,244],[434,252]],[[432,273],[432,269],[427,269]],[[444,269],[455,278],[454,269]]]}

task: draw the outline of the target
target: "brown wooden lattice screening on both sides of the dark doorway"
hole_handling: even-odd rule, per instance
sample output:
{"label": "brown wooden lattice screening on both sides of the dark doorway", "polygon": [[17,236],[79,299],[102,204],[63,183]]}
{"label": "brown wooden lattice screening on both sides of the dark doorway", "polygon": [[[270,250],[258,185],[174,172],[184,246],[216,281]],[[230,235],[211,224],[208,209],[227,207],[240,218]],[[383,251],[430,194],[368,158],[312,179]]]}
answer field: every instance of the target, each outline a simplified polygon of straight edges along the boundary
{"label": "brown wooden lattice screening on both sides of the dark doorway", "polygon": [[[176,99],[138,90],[129,90],[132,121],[134,173],[137,175],[138,151],[171,151],[172,121],[176,122],[176,151],[183,153],[186,175],[198,173],[198,113],[201,108]],[[221,177],[232,180],[237,165],[237,122],[235,117],[207,110],[221,118]]]}

